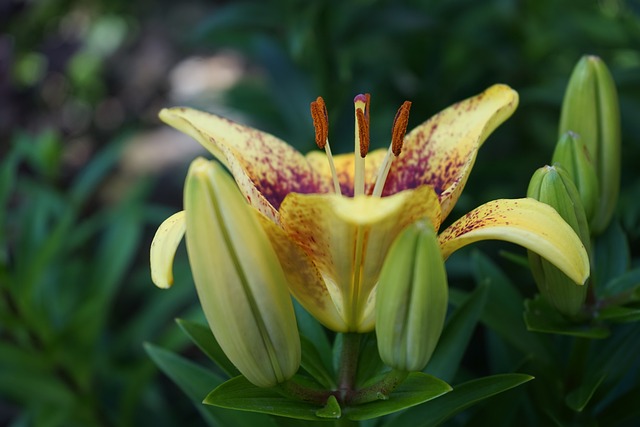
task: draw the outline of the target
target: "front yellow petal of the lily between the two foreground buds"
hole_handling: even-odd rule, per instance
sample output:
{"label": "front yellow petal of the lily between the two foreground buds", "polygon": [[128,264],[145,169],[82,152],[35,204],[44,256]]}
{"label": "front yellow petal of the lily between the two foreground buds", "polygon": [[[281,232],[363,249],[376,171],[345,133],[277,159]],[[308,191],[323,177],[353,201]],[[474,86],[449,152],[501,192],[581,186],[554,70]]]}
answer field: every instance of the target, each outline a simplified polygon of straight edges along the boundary
{"label": "front yellow petal of the lily between the two foreground buds", "polygon": [[280,208],[285,233],[313,260],[343,319],[340,332],[373,329],[375,285],[389,246],[425,217],[439,226],[440,205],[429,186],[384,198],[293,193]]}

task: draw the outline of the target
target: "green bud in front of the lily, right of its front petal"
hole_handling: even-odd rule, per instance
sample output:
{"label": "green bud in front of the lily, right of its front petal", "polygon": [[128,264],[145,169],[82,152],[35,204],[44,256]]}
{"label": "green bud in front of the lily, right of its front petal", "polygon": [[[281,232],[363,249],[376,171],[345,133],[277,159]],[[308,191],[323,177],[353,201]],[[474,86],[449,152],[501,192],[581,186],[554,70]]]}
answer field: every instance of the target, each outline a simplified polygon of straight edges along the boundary
{"label": "green bud in front of the lily, right of its front petal", "polygon": [[421,371],[436,347],[447,313],[447,275],[429,222],[402,231],[385,259],[376,296],[380,358],[401,371]]}

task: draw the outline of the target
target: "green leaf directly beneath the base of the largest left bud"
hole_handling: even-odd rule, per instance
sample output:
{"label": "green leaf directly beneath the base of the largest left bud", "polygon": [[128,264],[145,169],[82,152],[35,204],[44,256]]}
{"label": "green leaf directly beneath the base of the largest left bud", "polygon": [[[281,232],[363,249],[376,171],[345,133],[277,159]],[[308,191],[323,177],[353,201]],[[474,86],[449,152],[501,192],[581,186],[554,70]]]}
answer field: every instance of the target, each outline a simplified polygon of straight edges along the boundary
{"label": "green leaf directly beneath the base of the largest left bud", "polygon": [[319,421],[322,406],[284,397],[273,388],[261,388],[239,376],[226,381],[204,399],[207,405],[240,411],[258,412],[281,417]]}

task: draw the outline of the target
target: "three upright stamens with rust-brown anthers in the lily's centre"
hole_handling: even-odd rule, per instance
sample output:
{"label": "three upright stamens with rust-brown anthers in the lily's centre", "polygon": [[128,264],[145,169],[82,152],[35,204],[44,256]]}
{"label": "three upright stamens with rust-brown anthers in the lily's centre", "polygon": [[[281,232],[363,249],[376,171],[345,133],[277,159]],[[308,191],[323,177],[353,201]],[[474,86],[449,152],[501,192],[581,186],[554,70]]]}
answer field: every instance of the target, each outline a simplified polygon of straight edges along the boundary
{"label": "three upright stamens with rust-brown anthers in the lily's centre", "polygon": [[[355,107],[355,138],[354,138],[354,183],[353,183],[353,195],[363,195],[365,192],[365,158],[369,152],[369,94],[359,94],[353,99]],[[404,142],[404,136],[407,132],[407,125],[409,123],[409,110],[411,109],[411,102],[405,101],[395,118],[393,119],[393,127],[391,129],[391,144],[389,149],[380,164],[378,173],[376,175],[375,185],[373,187],[372,195],[380,197],[384,184],[389,175],[391,169],[391,163],[400,155],[402,151],[402,144]],[[338,180],[338,174],[333,161],[333,155],[331,154],[331,148],[329,146],[329,116],[327,115],[327,107],[322,97],[318,97],[311,103],[311,117],[313,119],[313,127],[315,128],[316,144],[320,149],[324,149],[327,154],[327,160],[329,161],[329,168],[331,169],[331,177],[333,179],[333,186],[336,194],[342,194],[340,190],[340,181]]]}

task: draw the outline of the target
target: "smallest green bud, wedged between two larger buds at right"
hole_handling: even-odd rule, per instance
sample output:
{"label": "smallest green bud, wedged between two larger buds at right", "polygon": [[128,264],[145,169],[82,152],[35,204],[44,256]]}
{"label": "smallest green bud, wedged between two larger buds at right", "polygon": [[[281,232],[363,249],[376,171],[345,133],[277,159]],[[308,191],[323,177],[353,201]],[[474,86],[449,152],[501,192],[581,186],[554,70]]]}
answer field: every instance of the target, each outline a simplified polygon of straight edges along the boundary
{"label": "smallest green bud, wedged between two larger buds at right", "polygon": [[598,177],[582,138],[571,131],[564,133],[556,144],[552,164],[559,164],[571,177],[580,193],[587,221],[591,222],[598,208]]}

